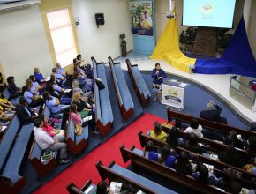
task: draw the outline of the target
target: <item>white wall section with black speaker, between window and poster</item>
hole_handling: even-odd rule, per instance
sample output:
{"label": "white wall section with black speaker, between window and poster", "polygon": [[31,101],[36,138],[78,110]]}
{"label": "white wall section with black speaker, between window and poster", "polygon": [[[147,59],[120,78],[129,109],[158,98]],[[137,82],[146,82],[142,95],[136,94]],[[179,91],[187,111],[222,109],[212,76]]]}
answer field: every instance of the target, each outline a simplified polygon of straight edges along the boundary
{"label": "white wall section with black speaker, between window and poster", "polygon": [[[132,50],[128,3],[125,0],[72,0],[82,57],[91,63],[91,56],[98,62],[107,62],[108,56],[121,56],[119,34],[126,34],[127,51]],[[97,28],[95,13],[104,13],[105,25]]]}

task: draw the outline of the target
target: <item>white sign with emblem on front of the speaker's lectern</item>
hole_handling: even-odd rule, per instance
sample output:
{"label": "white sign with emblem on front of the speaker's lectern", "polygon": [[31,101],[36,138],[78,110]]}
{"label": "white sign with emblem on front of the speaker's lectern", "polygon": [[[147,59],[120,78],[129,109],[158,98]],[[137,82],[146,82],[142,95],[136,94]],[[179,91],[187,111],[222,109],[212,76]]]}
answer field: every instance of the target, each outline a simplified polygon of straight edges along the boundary
{"label": "white sign with emblem on front of the speaker's lectern", "polygon": [[184,87],[162,85],[162,104],[184,108]]}

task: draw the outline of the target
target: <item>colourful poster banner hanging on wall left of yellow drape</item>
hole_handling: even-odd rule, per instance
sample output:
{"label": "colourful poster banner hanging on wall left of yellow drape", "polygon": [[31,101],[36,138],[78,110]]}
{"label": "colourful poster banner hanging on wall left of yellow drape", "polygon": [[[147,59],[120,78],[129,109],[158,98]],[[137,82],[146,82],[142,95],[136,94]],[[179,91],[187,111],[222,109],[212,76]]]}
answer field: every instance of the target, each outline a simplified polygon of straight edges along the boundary
{"label": "colourful poster banner hanging on wall left of yellow drape", "polygon": [[129,2],[132,34],[153,36],[152,1]]}

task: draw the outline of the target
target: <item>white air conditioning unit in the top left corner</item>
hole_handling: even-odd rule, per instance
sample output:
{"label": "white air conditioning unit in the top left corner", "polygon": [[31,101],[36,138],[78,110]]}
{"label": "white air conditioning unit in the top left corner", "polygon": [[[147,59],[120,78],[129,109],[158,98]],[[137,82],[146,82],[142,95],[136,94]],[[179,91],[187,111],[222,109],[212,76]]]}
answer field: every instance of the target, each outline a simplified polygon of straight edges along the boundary
{"label": "white air conditioning unit in the top left corner", "polygon": [[41,0],[0,1],[0,11],[12,11],[40,3]]}

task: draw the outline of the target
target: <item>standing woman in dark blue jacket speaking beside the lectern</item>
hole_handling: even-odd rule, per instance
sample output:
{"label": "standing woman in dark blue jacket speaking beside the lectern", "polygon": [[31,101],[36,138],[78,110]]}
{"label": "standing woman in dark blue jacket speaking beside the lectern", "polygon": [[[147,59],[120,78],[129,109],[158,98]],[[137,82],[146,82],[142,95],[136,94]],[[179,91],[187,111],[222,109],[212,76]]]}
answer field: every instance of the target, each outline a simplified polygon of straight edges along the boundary
{"label": "standing woman in dark blue jacket speaking beside the lectern", "polygon": [[163,79],[167,77],[166,73],[161,69],[160,63],[155,64],[155,68],[151,73],[151,77],[153,78],[153,90],[155,93],[154,101],[161,100],[161,91],[162,91],[162,82]]}

